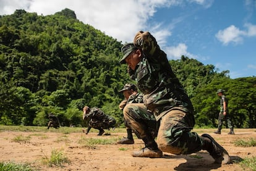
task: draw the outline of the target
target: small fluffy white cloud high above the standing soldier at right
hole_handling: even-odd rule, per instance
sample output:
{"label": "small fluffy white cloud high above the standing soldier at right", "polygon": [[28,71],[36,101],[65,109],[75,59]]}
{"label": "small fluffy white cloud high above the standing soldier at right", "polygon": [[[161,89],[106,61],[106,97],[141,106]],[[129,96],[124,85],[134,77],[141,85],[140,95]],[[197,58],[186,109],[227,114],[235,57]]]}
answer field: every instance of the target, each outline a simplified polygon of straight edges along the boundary
{"label": "small fluffy white cloud high above the standing soldier at right", "polygon": [[231,25],[224,30],[219,30],[215,36],[224,45],[228,45],[229,43],[239,44],[242,43],[245,36],[256,36],[256,25],[246,23],[244,27],[246,28],[246,30],[240,30],[234,25]]}

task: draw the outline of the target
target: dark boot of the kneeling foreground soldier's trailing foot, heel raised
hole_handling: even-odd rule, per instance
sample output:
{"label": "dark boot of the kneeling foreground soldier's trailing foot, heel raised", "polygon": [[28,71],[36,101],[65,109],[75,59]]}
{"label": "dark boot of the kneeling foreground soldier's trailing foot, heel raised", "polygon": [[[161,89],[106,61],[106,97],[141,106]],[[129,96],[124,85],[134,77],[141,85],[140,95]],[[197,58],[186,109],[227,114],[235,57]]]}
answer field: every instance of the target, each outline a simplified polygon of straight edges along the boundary
{"label": "dark boot of the kneeling foreground soldier's trailing foot, heel raised", "polygon": [[216,164],[230,164],[231,159],[228,152],[218,144],[210,135],[203,134],[203,150],[207,150]]}

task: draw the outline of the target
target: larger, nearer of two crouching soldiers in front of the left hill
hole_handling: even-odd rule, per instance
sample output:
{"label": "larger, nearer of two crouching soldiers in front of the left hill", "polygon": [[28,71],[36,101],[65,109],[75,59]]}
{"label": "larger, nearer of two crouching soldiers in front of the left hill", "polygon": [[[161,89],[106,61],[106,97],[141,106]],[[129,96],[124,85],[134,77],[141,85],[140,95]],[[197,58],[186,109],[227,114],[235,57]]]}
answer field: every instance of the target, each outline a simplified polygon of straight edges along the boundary
{"label": "larger, nearer of two crouching soldiers in front of the left hill", "polygon": [[114,130],[116,124],[113,117],[106,115],[97,107],[83,107],[83,120],[89,120],[87,130],[83,130],[85,134],[88,134],[91,128],[95,128],[99,130],[98,135],[103,135],[105,133],[103,129],[113,128]]}

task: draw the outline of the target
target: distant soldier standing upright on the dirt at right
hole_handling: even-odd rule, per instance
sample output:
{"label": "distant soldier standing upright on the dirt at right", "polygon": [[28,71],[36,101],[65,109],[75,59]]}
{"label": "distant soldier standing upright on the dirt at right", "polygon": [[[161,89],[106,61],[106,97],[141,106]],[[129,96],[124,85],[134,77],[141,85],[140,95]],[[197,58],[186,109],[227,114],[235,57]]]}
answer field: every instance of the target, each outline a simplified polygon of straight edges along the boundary
{"label": "distant soldier standing upright on the dirt at right", "polygon": [[221,98],[221,100],[220,100],[220,113],[218,117],[218,130],[214,131],[214,133],[221,134],[223,121],[226,121],[226,124],[228,124],[228,128],[230,129],[228,134],[234,135],[233,124],[231,122],[231,119],[229,117],[229,112],[228,112],[228,99],[224,95],[224,90],[219,89],[216,93]]}

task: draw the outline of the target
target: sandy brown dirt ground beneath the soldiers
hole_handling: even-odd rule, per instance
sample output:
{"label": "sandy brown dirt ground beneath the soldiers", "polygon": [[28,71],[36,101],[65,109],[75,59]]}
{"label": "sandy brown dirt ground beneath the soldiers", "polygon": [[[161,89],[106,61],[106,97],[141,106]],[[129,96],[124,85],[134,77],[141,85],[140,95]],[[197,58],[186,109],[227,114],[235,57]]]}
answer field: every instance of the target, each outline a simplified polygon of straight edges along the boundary
{"label": "sandy brown dirt ground beneath the soldiers", "polygon": [[[53,129],[53,128],[51,128]],[[60,128],[61,129],[61,128]],[[93,129],[92,129],[93,130]],[[227,149],[231,159],[239,161],[244,157],[256,156],[255,147],[238,147],[234,141],[256,138],[256,129],[235,129],[236,135],[228,135],[228,129],[223,129],[221,135],[213,133],[213,129],[194,130],[199,135],[209,133],[218,143]],[[29,163],[40,170],[243,170],[237,162],[233,164],[213,164],[213,159],[207,151],[195,154],[176,156],[165,153],[160,159],[132,157],[134,150],[143,148],[143,141],[135,138],[134,144],[105,144],[96,146],[85,146],[81,140],[91,138],[111,139],[117,141],[126,136],[124,131],[106,131],[110,135],[97,136],[96,130],[88,135],[85,133],[58,133],[58,132],[27,132],[27,131],[2,131],[0,132],[0,161],[12,161],[17,163]],[[17,136],[27,137],[26,143],[15,142]],[[41,160],[43,157],[51,156],[53,149],[61,149],[69,159],[69,163],[62,167],[47,167]]]}

